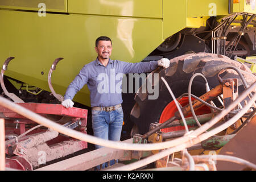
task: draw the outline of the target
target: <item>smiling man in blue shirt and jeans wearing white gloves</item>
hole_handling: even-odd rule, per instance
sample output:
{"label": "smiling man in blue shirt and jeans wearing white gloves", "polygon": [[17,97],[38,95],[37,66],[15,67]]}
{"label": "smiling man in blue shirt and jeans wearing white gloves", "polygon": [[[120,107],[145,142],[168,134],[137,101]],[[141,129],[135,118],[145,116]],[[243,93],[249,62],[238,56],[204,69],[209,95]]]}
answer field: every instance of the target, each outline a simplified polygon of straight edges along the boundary
{"label": "smiling man in blue shirt and jeans wearing white gloves", "polygon": [[[68,86],[64,101],[61,104],[67,108],[73,107],[73,97],[87,84],[90,90],[94,136],[118,141],[121,137],[123,123],[122,94],[109,91],[117,84],[115,82],[113,85],[110,77],[118,73],[151,72],[158,66],[168,68],[170,60],[163,58],[145,63],[126,63],[119,60],[111,60],[112,40],[106,36],[97,38],[95,51],[98,54],[97,59],[84,65],[79,75]],[[109,79],[107,78],[102,84],[99,78],[100,75],[103,75],[103,77],[106,75]],[[110,89],[106,89],[106,87]],[[101,146],[96,145],[96,148],[101,148]]]}

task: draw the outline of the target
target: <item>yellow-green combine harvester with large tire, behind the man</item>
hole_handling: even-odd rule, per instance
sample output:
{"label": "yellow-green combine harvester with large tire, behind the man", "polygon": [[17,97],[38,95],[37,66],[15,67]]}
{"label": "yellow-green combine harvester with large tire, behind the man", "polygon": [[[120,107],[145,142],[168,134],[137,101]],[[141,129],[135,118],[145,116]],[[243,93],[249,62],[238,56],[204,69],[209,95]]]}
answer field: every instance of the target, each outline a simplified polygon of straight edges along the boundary
{"label": "yellow-green combine harvester with large tire, behind the man", "polygon": [[[188,98],[182,96],[194,73],[203,73],[212,89],[220,84],[217,73],[233,66],[243,71],[248,85],[253,84],[255,15],[254,0],[1,0],[0,65],[15,57],[3,80],[6,89],[24,102],[60,104],[48,85],[53,61],[63,58],[51,76],[55,92],[63,96],[80,69],[96,59],[94,44],[99,36],[112,39],[113,60],[170,59],[170,68],[152,72],[159,73],[159,80],[152,83],[159,86],[156,100],[148,99],[150,94],[140,93],[141,89],[123,93],[122,137],[127,139],[147,133],[151,123],[163,123],[177,111],[161,76],[182,106],[188,104]],[[245,90],[236,72],[223,74],[224,78],[238,78],[239,92]],[[197,77],[192,93],[202,96],[204,85]],[[73,101],[90,113],[87,86]],[[208,113],[207,106],[196,112]],[[184,129],[175,127],[165,132]]]}

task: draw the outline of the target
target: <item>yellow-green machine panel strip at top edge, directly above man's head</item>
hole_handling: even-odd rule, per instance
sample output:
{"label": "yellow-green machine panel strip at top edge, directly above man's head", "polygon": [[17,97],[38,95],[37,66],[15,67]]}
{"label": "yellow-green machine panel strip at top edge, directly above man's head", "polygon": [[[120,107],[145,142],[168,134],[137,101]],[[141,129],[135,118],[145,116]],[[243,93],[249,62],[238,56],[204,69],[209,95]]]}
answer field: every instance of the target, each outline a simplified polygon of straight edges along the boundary
{"label": "yellow-green machine panel strip at top edge, directly above man's head", "polygon": [[69,0],[68,12],[162,18],[162,0]]}

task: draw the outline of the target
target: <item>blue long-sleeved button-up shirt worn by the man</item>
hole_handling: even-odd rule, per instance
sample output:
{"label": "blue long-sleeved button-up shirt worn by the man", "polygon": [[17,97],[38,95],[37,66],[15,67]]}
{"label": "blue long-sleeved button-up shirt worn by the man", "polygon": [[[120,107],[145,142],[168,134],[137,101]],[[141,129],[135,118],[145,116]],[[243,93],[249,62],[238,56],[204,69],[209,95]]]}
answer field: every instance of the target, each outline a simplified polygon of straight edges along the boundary
{"label": "blue long-sleeved button-up shirt worn by the man", "polygon": [[90,90],[90,104],[92,107],[122,104],[122,93],[115,90],[118,86],[121,87],[122,75],[151,72],[157,67],[158,61],[127,63],[111,59],[109,59],[108,65],[104,67],[97,58],[84,65],[79,75],[68,86],[64,100],[68,98],[72,100],[75,94],[87,84]]}

